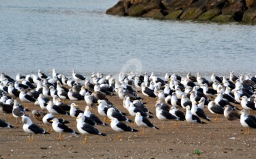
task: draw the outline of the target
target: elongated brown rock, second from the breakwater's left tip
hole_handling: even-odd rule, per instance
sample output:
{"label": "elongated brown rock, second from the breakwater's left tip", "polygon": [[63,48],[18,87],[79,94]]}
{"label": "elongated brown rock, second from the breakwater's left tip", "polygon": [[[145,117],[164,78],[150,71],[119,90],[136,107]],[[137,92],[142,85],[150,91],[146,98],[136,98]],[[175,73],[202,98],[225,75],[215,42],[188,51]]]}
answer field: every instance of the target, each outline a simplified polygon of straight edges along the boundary
{"label": "elongated brown rock, second from the breakwater's left tip", "polygon": [[160,9],[160,0],[151,0],[148,2],[142,2],[137,3],[135,5],[132,5],[128,10],[126,11],[126,14],[128,16],[142,16],[143,14],[146,14],[147,12],[150,12],[154,9]]}

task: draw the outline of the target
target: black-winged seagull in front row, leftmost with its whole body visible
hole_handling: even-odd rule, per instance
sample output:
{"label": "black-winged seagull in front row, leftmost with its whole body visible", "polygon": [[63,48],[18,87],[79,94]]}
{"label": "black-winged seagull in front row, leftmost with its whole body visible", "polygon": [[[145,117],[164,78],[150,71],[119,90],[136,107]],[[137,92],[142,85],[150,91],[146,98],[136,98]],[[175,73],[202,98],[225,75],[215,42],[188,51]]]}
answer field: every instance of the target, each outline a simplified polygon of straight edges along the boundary
{"label": "black-winged seagull in front row, leftmost with its whole body visible", "polygon": [[33,141],[33,134],[49,134],[44,129],[40,128],[38,125],[33,124],[29,117],[23,116],[22,121],[23,130],[29,133],[29,141]]}

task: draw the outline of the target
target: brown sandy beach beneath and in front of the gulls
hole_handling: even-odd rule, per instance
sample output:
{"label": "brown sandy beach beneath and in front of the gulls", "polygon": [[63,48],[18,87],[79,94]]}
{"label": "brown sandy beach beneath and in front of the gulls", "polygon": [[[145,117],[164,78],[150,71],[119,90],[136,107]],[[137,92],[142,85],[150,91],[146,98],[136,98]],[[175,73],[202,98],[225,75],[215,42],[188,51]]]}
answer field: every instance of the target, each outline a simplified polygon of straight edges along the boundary
{"label": "brown sandy beach beneath and in front of the gulls", "polygon": [[[122,106],[122,100],[108,97],[119,109],[128,113]],[[85,101],[76,102],[81,110],[85,109]],[[162,121],[156,118],[153,108],[154,101],[146,104],[154,113],[150,119],[160,130],[145,129],[145,134],[139,132],[124,132],[121,139],[115,139],[117,132],[110,127],[97,126],[98,130],[107,136],[90,135],[88,142],[81,141],[84,136],[73,137],[63,134],[63,140],[58,141],[57,132],[34,136],[34,141],[27,141],[28,134],[23,132],[23,124],[15,124],[16,119],[6,119],[15,128],[0,129],[0,158],[255,158],[256,156],[256,130],[251,134],[244,134],[240,121],[227,121],[223,115],[218,115],[218,121],[213,121],[214,115],[207,108],[205,113],[212,119],[212,123],[195,124],[193,130],[186,121],[180,121],[174,126],[174,121]],[[28,109],[40,109],[39,106],[29,104]],[[98,115],[96,108],[94,113]],[[182,110],[182,109],[180,109]],[[184,110],[182,110],[184,111]],[[31,115],[31,113],[27,113]],[[76,130],[76,121],[71,117],[64,117],[70,121],[70,126]],[[103,117],[100,117],[103,119]],[[134,117],[128,116],[134,120]],[[0,115],[4,119],[4,115]],[[46,129],[31,116],[32,121]],[[140,130],[136,124],[128,124]],[[198,150],[198,151],[197,151]],[[195,153],[195,152],[199,153]]]}

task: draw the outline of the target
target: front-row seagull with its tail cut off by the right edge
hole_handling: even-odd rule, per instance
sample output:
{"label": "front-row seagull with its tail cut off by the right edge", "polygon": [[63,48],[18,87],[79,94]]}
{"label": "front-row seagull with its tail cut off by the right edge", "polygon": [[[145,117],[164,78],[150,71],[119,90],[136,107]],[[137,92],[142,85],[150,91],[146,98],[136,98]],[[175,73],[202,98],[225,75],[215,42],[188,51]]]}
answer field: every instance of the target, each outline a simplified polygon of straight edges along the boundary
{"label": "front-row seagull with its tail cut off by the right edge", "polygon": [[253,115],[249,115],[248,111],[242,110],[241,111],[241,118],[240,118],[240,123],[241,125],[246,128],[245,129],[245,134],[250,134],[250,128],[256,128],[256,117]]}

